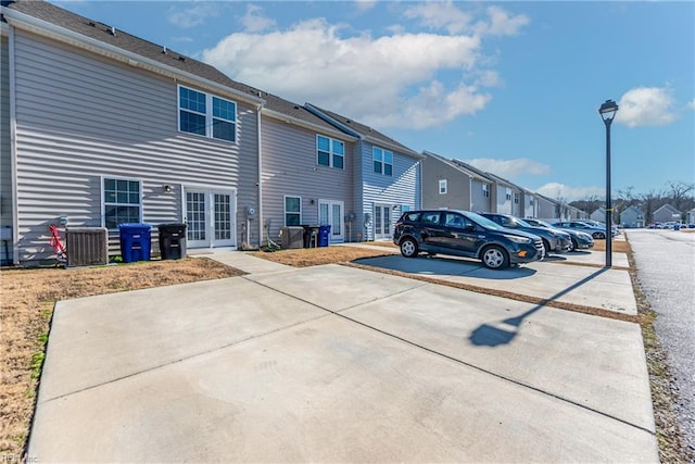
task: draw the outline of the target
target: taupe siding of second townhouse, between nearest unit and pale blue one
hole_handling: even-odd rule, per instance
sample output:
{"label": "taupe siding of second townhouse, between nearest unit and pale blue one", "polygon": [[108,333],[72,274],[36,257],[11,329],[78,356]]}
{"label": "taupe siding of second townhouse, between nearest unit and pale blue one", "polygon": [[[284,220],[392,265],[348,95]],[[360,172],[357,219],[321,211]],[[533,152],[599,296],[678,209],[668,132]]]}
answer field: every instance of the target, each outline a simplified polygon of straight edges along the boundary
{"label": "taupe siding of second townhouse, between nearest unit and pale blue one", "polygon": [[302,199],[302,224],[318,225],[318,200],[342,201],[345,214],[354,211],[354,142],[342,140],[344,168],[339,170],[318,165],[314,130],[264,116],[261,134],[263,220],[266,225],[270,223],[267,230],[271,240],[277,241],[285,226],[285,196]]}

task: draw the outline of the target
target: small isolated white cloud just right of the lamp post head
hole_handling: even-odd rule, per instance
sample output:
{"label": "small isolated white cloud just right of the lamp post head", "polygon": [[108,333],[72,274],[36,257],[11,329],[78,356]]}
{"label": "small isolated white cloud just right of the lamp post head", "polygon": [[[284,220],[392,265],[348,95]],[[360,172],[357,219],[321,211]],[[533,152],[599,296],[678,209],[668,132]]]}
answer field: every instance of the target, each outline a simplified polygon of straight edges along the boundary
{"label": "small isolated white cloud just right of the lamp post head", "polygon": [[618,102],[616,123],[628,127],[662,126],[675,121],[673,97],[668,88],[637,87]]}

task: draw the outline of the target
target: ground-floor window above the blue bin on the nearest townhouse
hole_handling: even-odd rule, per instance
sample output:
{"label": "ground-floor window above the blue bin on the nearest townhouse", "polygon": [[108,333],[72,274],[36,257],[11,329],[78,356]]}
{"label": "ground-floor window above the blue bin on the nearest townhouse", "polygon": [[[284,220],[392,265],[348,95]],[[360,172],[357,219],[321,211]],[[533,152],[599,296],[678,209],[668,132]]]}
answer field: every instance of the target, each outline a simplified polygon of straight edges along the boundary
{"label": "ground-floor window above the blue bin on the nearest townhouse", "polygon": [[140,180],[104,178],[102,188],[104,227],[116,229],[118,224],[142,222]]}

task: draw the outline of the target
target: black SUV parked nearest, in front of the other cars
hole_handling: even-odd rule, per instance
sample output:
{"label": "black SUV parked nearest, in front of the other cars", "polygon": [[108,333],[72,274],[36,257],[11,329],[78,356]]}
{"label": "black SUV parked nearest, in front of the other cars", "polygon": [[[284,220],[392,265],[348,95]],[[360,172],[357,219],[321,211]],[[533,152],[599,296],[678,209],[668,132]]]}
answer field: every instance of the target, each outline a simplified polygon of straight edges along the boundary
{"label": "black SUV parked nearest, in front of the other cars", "polygon": [[533,234],[504,228],[479,214],[456,210],[403,213],[395,223],[393,242],[405,258],[421,251],[481,260],[485,267],[502,269],[511,264],[543,259],[543,240]]}

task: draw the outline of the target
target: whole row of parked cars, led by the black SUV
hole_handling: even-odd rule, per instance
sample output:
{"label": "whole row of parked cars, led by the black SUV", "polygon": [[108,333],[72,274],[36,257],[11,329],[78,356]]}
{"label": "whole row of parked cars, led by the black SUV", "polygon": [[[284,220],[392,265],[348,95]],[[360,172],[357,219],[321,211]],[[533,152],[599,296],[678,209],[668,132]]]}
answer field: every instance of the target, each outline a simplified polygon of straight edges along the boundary
{"label": "whole row of parked cars, led by the black SUV", "polygon": [[395,223],[393,242],[405,258],[451,254],[478,259],[491,269],[594,246],[592,237],[582,231],[565,231],[543,222],[531,224],[507,214],[458,210],[405,212]]}

